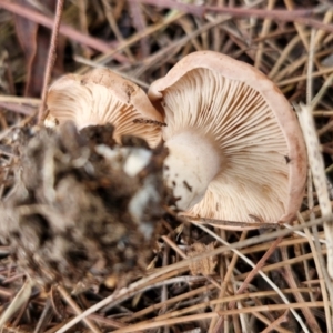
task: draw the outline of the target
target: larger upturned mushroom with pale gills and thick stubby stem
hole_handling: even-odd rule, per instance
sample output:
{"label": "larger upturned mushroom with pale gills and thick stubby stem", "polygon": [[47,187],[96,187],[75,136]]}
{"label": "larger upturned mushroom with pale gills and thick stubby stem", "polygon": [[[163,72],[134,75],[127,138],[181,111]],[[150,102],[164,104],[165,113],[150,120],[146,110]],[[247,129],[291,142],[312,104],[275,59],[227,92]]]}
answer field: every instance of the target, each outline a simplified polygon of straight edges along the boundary
{"label": "larger upturned mushroom with pale gills and thick stubby stem", "polygon": [[164,112],[164,179],[184,214],[248,222],[249,229],[295,215],[305,145],[290,103],[263,73],[199,51],[153,82],[148,95]]}

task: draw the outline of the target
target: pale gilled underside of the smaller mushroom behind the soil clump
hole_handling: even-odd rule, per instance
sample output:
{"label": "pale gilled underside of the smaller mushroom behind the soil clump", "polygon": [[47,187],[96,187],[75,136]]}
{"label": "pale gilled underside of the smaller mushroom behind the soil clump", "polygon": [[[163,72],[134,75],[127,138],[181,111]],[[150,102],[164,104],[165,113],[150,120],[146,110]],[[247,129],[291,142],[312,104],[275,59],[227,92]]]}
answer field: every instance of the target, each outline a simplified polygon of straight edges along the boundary
{"label": "pale gilled underside of the smaller mushroom behind the soil clump", "polygon": [[159,125],[143,125],[134,121],[142,119],[144,121],[147,117],[143,117],[130,100],[118,99],[112,90],[103,85],[82,82],[79,75],[58,80],[49,90],[47,105],[50,114],[60,123],[72,120],[78,129],[112,123],[115,128],[114,139],[118,142],[124,134],[143,138],[150,145],[155,145],[160,141]]}

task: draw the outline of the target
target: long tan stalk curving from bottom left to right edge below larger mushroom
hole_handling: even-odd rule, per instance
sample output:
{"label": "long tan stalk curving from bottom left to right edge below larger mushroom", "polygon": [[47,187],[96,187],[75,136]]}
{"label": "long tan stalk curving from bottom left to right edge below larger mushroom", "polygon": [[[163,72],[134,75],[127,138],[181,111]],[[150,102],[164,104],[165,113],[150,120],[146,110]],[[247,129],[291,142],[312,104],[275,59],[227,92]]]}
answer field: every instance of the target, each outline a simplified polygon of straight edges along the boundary
{"label": "long tan stalk curving from bottom left to right edge below larger mushroom", "polygon": [[[29,209],[30,209],[30,206],[29,206]],[[24,206],[21,206],[20,210],[24,211]],[[46,211],[44,213],[47,213],[47,212],[48,211]],[[149,281],[152,281],[153,279],[155,279],[158,276],[161,276],[164,273],[172,272],[172,271],[178,270],[178,269],[183,269],[184,266],[188,266],[190,263],[192,263],[196,260],[204,259],[204,258],[210,256],[210,255],[219,255],[219,254],[224,253],[224,252],[230,251],[230,250],[242,249],[242,248],[254,245],[254,244],[258,244],[258,243],[275,240],[279,236],[283,238],[287,234],[291,234],[294,231],[303,230],[306,226],[310,228],[310,226],[313,226],[313,225],[321,225],[324,221],[327,221],[327,220],[326,219],[316,219],[314,221],[306,222],[304,225],[294,225],[294,226],[291,226],[290,229],[279,230],[279,231],[274,231],[274,232],[271,232],[271,233],[268,233],[268,234],[253,236],[253,238],[246,239],[242,242],[235,242],[235,243],[229,244],[228,246],[223,245],[223,246],[218,248],[213,251],[209,251],[208,253],[202,253],[202,254],[196,255],[195,258],[186,259],[186,260],[183,260],[181,262],[171,264],[167,268],[162,268],[158,272],[154,272],[154,273],[150,274],[149,276],[132,283],[129,287],[120,290],[118,293],[113,293],[112,295],[105,297],[104,300],[100,301],[99,303],[92,305],[90,309],[87,309],[80,315],[72,319],[64,326],[62,326],[57,333],[67,332],[67,330],[69,330],[70,327],[72,327],[73,325],[79,323],[82,319],[84,319],[89,314],[99,311],[100,309],[107,306],[110,302],[113,302],[114,300],[120,300],[124,295],[127,295],[127,296],[131,295],[132,293],[138,291],[138,289],[140,289],[142,285],[149,283]],[[333,216],[331,216],[330,221],[333,221]],[[201,225],[199,225],[199,224],[196,224],[196,225],[199,228],[201,228]],[[208,229],[205,229],[205,230],[208,230]],[[279,295],[281,295],[280,290],[278,291],[278,293],[279,293]],[[282,294],[282,296],[283,296],[283,294]],[[305,327],[305,332],[309,332],[306,330],[306,327]]]}

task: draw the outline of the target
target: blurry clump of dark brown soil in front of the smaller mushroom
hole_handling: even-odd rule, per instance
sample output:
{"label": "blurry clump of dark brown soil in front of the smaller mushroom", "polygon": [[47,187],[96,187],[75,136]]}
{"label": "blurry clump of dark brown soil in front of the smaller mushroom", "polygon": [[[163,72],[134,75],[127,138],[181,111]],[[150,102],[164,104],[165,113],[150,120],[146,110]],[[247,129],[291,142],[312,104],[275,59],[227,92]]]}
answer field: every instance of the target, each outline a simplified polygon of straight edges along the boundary
{"label": "blurry clump of dark brown soil in front of the smaller mushroom", "polygon": [[110,275],[125,283],[147,266],[163,214],[164,149],[135,139],[120,147],[112,134],[110,124],[79,133],[64,123],[17,135],[1,241],[42,285],[84,290]]}

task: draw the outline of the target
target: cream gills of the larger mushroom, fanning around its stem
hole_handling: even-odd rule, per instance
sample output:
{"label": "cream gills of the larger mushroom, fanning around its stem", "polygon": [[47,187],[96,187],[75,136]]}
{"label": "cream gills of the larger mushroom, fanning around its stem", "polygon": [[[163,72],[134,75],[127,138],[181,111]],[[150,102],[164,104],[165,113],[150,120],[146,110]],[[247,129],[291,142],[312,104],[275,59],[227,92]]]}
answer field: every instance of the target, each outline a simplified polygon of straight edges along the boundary
{"label": "cream gills of the larger mushroom, fanning around its stem", "polygon": [[261,93],[244,82],[208,69],[191,72],[163,91],[168,123],[163,139],[189,128],[204,131],[216,140],[224,163],[203,200],[186,213],[278,222],[290,200],[290,152],[273,111]]}

